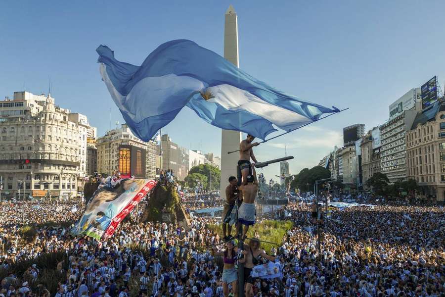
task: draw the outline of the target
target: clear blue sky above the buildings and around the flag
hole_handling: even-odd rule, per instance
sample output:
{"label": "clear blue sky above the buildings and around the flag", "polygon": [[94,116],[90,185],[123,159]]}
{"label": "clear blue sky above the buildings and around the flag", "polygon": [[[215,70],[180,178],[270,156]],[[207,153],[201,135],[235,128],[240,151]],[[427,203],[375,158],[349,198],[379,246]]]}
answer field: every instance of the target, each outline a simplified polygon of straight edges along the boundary
{"label": "clear blue sky above the buildings and around the flag", "polygon": [[[342,144],[342,128],[384,123],[388,105],[434,75],[444,86],[444,1],[1,1],[0,96],[47,92],[86,114],[99,135],[123,123],[101,82],[95,49],[139,65],[160,44],[190,39],[223,54],[224,12],[238,14],[240,67],[302,99],[350,109],[256,148],[291,173]],[[443,87],[442,87],[443,88]],[[163,129],[174,142],[221,154],[221,132],[184,108]],[[279,166],[264,170],[278,174]]]}

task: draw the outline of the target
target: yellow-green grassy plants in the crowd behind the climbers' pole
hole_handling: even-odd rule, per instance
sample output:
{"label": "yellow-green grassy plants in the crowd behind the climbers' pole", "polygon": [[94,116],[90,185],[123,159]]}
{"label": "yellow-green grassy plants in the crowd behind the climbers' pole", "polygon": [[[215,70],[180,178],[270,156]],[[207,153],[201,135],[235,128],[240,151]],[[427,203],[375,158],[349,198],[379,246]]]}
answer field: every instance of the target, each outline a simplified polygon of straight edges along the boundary
{"label": "yellow-green grassy plants in the crowd behind the climbers' pole", "polygon": [[[292,221],[265,220],[251,226],[247,232],[247,237],[252,238],[255,232],[258,232],[260,240],[276,243],[277,245],[261,243],[261,246],[269,253],[272,247],[278,248],[281,245],[286,232],[292,229],[293,226],[294,223]],[[212,232],[223,233],[221,225],[209,224],[208,227]]]}

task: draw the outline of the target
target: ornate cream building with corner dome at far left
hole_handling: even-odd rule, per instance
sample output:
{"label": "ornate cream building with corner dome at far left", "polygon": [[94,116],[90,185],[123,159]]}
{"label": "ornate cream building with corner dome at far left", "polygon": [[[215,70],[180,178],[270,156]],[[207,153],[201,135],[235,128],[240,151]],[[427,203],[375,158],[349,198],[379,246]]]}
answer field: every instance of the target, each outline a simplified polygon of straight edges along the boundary
{"label": "ornate cream building with corner dome at far left", "polygon": [[50,94],[14,92],[0,101],[2,197],[76,197],[91,130],[85,115],[55,105]]}

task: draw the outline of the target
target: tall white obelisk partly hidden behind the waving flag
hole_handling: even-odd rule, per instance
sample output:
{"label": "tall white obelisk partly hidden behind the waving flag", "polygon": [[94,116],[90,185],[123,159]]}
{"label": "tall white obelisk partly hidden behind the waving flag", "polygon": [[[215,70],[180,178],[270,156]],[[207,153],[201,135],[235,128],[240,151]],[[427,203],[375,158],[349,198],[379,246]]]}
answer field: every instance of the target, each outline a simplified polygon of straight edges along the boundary
{"label": "tall white obelisk partly hidden behind the waving flag", "polygon": [[[239,67],[238,59],[238,21],[235,9],[230,5],[225,12],[224,24],[224,58]],[[239,148],[241,132],[223,130],[221,138],[221,198],[225,199],[225,188],[228,186],[228,178],[236,177],[236,165],[239,153],[227,154],[228,151]]]}

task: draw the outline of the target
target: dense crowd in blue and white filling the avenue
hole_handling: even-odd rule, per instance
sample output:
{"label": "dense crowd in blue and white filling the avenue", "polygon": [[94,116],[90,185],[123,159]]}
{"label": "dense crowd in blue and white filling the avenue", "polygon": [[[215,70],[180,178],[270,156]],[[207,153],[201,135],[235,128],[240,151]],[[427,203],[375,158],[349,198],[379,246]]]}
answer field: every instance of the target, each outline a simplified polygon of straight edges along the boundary
{"label": "dense crowd in blue and white filling the avenue", "polygon": [[[193,199],[184,204],[198,207]],[[58,292],[41,288],[37,294],[33,285],[38,285],[42,271],[30,265],[22,275],[9,274],[1,280],[0,296],[224,296],[222,259],[212,255],[210,247],[222,237],[209,225],[219,223],[215,218],[195,216],[189,230],[165,223],[125,222],[110,240],[97,243],[88,237],[73,238],[68,228],[43,224],[77,219],[81,204],[29,202],[24,222],[21,206],[1,204],[0,269],[7,271],[15,262],[55,251],[66,252],[69,265],[55,267],[66,275]],[[143,207],[142,203],[135,210],[134,221]],[[265,217],[277,213],[295,222],[272,250],[283,264],[283,277],[256,279],[255,296],[444,295],[442,207],[334,209],[329,219],[320,222],[319,249],[310,206],[290,204]],[[18,231],[31,223],[42,225],[36,225],[36,235],[27,240]]]}

